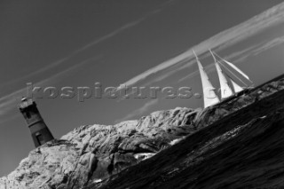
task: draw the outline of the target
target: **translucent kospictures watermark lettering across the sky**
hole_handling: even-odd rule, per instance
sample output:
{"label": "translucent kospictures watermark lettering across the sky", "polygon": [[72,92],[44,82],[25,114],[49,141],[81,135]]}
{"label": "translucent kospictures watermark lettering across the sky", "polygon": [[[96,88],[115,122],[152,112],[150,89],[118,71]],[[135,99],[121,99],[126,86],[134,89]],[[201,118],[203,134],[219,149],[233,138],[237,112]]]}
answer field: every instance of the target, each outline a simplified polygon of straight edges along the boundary
{"label": "translucent kospictures watermark lettering across the sky", "polygon": [[[27,83],[28,98],[76,98],[83,102],[87,98],[201,98],[200,93],[194,93],[190,87],[159,87],[159,86],[132,86],[121,84],[119,87],[103,87],[101,83],[93,86],[54,86],[40,87],[33,83]],[[208,98],[216,98],[212,95]]]}

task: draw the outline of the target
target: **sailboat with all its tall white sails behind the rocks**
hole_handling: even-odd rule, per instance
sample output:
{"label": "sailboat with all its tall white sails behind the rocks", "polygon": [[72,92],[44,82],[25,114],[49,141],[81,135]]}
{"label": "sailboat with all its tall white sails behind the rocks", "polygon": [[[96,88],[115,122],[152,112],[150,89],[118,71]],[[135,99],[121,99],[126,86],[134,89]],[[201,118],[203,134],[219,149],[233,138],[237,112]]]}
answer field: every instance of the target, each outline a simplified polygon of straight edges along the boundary
{"label": "sailboat with all its tall white sails behind the rocks", "polygon": [[[200,71],[200,74],[201,74],[204,108],[206,108],[208,106],[216,105],[217,103],[220,103],[220,102],[224,101],[225,99],[230,98],[233,95],[236,95],[236,94],[240,93],[241,91],[243,91],[245,89],[245,88],[242,88],[238,83],[236,83],[230,75],[227,75],[224,72],[224,70],[221,68],[221,66],[224,67],[228,72],[230,72],[239,81],[241,81],[241,83],[243,83],[244,85],[248,86],[246,83],[244,83],[241,80],[240,77],[233,74],[233,72],[230,69],[225,67],[225,64],[228,65],[229,67],[233,68],[236,72],[238,72],[240,75],[245,77],[248,81],[250,81],[248,75],[243,73],[240,68],[234,66],[233,63],[231,63],[231,62],[229,62],[225,59],[222,59],[221,57],[219,57],[217,55],[216,52],[213,52],[211,50],[209,50],[209,51],[210,51],[210,53],[211,53],[211,55],[214,59],[214,64],[215,64],[215,67],[217,69],[217,75],[218,75],[219,83],[220,83],[221,98],[217,97],[217,94],[216,94],[216,91],[215,91],[216,89],[214,88],[212,83],[209,81],[209,76],[206,74],[204,68],[202,67],[201,61],[198,59],[195,51],[193,51],[193,54],[195,56],[195,59],[197,61],[197,65],[199,67],[199,71]],[[221,59],[221,61],[219,61],[216,57]]]}

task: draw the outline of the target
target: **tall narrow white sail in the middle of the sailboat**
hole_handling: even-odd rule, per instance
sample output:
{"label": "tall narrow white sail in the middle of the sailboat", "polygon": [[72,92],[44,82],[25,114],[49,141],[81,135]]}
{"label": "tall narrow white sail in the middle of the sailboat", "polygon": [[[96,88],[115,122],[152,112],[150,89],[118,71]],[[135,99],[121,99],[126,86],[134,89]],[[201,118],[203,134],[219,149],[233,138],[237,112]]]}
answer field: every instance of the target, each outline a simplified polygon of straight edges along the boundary
{"label": "tall narrow white sail in the middle of the sailboat", "polygon": [[215,62],[215,67],[217,69],[217,74],[218,74],[220,88],[221,88],[221,98],[222,99],[228,98],[228,97],[233,95],[233,91],[232,91],[227,79],[225,78],[225,75],[223,74],[223,70],[219,66],[217,59],[215,58],[213,52],[211,50],[209,50],[209,51],[212,54],[212,57],[213,57],[214,62]]}

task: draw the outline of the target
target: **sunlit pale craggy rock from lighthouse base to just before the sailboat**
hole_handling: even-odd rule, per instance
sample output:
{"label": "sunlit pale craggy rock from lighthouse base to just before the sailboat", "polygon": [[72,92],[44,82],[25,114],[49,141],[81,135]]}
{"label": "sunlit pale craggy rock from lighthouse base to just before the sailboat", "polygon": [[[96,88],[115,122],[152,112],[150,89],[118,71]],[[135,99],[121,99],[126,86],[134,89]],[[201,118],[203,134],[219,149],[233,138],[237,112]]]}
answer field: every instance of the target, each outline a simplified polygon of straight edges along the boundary
{"label": "sunlit pale craggy rock from lighthouse base to just before the sailboat", "polygon": [[84,125],[33,150],[2,188],[81,188],[120,172],[192,133],[200,109],[177,107],[115,125]]}

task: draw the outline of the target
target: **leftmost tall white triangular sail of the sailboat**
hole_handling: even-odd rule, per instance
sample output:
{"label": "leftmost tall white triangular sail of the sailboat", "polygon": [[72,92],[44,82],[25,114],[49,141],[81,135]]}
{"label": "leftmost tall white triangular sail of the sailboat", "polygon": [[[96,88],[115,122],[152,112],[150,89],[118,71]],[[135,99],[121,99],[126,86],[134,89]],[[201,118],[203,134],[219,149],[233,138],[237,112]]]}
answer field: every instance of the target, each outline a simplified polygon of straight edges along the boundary
{"label": "leftmost tall white triangular sail of the sailboat", "polygon": [[201,65],[201,62],[199,61],[197,55],[195,54],[195,51],[193,51],[193,54],[195,56],[195,59],[197,61],[197,65],[201,74],[201,83],[202,83],[202,90],[203,90],[203,100],[204,100],[204,108],[208,106],[215,105],[220,102],[219,98],[217,97],[215,93],[215,88],[209,81],[209,77],[204,71],[204,68]]}

